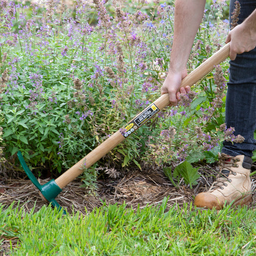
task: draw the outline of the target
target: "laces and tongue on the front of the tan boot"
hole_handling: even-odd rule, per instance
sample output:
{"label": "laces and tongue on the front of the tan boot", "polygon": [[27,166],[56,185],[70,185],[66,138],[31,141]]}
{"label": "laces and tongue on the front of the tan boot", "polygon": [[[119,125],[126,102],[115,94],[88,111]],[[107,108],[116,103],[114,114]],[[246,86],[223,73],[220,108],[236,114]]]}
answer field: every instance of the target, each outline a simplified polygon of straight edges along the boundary
{"label": "laces and tongue on the front of the tan boot", "polygon": [[213,189],[224,189],[223,186],[227,187],[228,184],[226,182],[231,182],[232,180],[229,178],[229,174],[236,175],[236,172],[231,170],[231,167],[238,167],[237,162],[240,160],[235,158],[234,156],[223,156],[219,155],[219,170],[215,182],[212,185],[211,190]]}

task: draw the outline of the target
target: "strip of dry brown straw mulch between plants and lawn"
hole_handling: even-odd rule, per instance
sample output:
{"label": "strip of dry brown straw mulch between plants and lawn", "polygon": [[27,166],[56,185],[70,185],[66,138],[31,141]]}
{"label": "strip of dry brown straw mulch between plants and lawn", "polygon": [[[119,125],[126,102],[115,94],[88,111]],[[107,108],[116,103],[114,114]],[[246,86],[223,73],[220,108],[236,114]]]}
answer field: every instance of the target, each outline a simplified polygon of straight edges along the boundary
{"label": "strip of dry brown straw mulch between plants and lawn", "polygon": [[[97,181],[97,189],[91,191],[82,187],[83,182],[76,179],[70,182],[63,191],[57,196],[56,201],[69,213],[81,212],[86,214],[95,207],[100,207],[104,203],[123,204],[137,208],[147,205],[161,204],[164,198],[167,200],[167,209],[173,205],[182,207],[183,203],[193,202],[194,196],[209,188],[213,182],[213,176],[217,174],[215,165],[204,165],[199,167],[202,175],[198,185],[190,189],[183,185],[182,180],[179,187],[173,184],[165,177],[161,169],[151,171],[133,170],[125,173],[122,178],[106,178]],[[207,177],[207,179],[205,178]],[[45,184],[50,179],[38,179],[39,183]],[[253,190],[256,187],[255,177],[252,177]],[[38,189],[26,178],[8,179],[0,176],[0,205],[6,207],[23,206],[25,210],[30,211],[35,206],[35,211],[47,205],[38,194]]]}

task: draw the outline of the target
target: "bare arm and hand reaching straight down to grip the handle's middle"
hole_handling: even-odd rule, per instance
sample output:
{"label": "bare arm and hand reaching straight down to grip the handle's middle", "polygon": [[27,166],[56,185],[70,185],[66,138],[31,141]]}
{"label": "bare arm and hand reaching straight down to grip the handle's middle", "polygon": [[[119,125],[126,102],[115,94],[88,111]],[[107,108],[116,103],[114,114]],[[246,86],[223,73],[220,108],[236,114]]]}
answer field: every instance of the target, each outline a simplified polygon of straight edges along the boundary
{"label": "bare arm and hand reaching straight down to grip the handle's middle", "polygon": [[177,105],[180,93],[190,91],[190,87],[180,87],[187,76],[187,61],[200,26],[206,0],[176,0],[174,14],[174,35],[170,67],[161,93],[169,93],[170,105]]}

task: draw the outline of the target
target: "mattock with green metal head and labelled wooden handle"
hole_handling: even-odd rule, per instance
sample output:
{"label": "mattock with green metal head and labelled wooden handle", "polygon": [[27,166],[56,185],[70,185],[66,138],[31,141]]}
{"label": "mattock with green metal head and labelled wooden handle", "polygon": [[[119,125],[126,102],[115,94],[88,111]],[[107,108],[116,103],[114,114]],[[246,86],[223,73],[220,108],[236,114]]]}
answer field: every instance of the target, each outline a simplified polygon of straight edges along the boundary
{"label": "mattock with green metal head and labelled wooden handle", "polygon": [[[226,60],[229,56],[229,43],[223,46],[218,52],[214,53],[212,57],[204,61],[200,66],[193,70],[181,81],[181,87],[192,86],[197,83],[201,78],[206,76],[215,66],[219,65],[222,61]],[[152,118],[158,111],[161,111],[170,104],[169,94],[163,94],[155,100],[150,106],[145,108],[141,113],[135,116],[127,125],[116,131],[111,137],[103,141],[97,148],[93,149],[89,154],[82,158],[79,162],[73,165],[69,170],[60,175],[59,178],[53,179],[44,185],[41,185],[34,174],[29,170],[21,152],[18,152],[20,163],[28,175],[29,179],[34,183],[39,193],[43,198],[50,202],[53,206],[61,209],[61,206],[55,200],[62,189],[70,182],[81,175],[84,168],[89,168],[96,163],[101,157],[105,156],[110,150],[115,148],[119,143],[125,140],[129,135],[135,132],[142,124]]]}

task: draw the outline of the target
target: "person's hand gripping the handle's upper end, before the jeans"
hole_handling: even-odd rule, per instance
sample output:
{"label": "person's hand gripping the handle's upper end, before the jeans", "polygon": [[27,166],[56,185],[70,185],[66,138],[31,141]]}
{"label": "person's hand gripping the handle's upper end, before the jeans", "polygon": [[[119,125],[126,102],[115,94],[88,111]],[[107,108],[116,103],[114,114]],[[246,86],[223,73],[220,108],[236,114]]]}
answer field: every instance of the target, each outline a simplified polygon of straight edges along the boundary
{"label": "person's hand gripping the handle's upper end, before the jeans", "polygon": [[237,54],[249,52],[255,48],[256,33],[254,30],[255,28],[243,22],[229,31],[226,43],[230,42],[230,60],[235,60]]}

